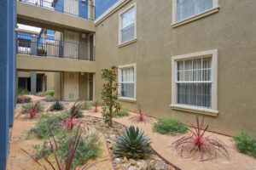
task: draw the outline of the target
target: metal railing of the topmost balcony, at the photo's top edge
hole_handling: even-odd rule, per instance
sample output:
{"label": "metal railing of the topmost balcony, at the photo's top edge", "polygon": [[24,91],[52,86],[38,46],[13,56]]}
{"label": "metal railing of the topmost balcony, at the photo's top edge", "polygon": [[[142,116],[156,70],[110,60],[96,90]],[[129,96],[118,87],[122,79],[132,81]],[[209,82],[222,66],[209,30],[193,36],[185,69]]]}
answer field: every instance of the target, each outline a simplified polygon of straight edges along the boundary
{"label": "metal railing of the topmost balcony, at the photo's top edge", "polygon": [[73,14],[87,20],[95,20],[95,6],[90,0],[17,0],[61,13]]}

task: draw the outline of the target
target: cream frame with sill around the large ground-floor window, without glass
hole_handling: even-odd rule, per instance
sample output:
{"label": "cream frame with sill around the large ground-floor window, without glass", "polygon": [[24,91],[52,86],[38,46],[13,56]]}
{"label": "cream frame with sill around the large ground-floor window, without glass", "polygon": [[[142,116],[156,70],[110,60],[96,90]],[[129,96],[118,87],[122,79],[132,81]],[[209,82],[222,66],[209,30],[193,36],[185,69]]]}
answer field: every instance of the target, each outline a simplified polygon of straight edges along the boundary
{"label": "cream frame with sill around the large ground-floor window, without glass", "polygon": [[[201,57],[212,57],[212,108],[204,108],[200,106],[193,105],[181,105],[177,104],[177,86],[176,86],[176,71],[177,71],[177,61],[184,59],[198,59]],[[194,54],[184,54],[172,56],[172,104],[170,105],[172,109],[179,111],[189,111],[195,112],[203,115],[218,116],[218,50],[213,49],[209,51],[203,51]]]}

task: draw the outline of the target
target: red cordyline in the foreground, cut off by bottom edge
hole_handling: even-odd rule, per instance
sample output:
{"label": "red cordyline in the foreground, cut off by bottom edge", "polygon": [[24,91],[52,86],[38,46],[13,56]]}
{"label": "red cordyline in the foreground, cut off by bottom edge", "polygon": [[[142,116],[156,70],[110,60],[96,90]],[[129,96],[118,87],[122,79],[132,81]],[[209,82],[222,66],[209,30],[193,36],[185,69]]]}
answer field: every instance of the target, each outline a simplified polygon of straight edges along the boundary
{"label": "red cordyline in the foreground, cut off by bottom edge", "polygon": [[[81,137],[81,133],[79,132],[79,127],[78,127],[73,138],[71,138],[71,133],[69,133],[68,146],[67,146],[67,159],[64,160],[64,153],[63,153],[61,160],[59,160],[58,157],[56,156],[56,150],[58,150],[59,147],[58,147],[57,143],[55,142],[55,138],[54,138],[53,134],[51,133],[51,138],[54,140],[55,147],[54,147],[54,144],[52,144],[52,142],[50,141],[50,139],[49,139],[49,144],[50,144],[51,150],[53,151],[54,156],[55,156],[56,166],[54,166],[53,163],[50,162],[46,157],[43,157],[44,160],[49,164],[50,169],[53,169],[53,170],[70,170],[71,169],[73,157],[79,147],[80,137]],[[28,156],[31,156],[32,160],[35,161],[36,163],[38,163],[38,165],[40,167],[42,167],[44,170],[48,170],[48,168],[45,167],[44,164],[40,163],[36,158],[34,158],[32,155],[30,155],[26,150],[23,150],[21,148],[20,148],[20,150],[24,151]],[[102,160],[102,161],[108,161],[108,159]],[[90,167],[95,166],[96,163],[98,163],[98,162],[101,162],[101,161],[96,161],[95,163],[79,167],[78,169],[77,169],[77,167],[79,166],[79,163],[77,163],[75,165],[75,167],[73,168],[73,170],[76,170],[76,169],[77,170],[87,170],[87,169],[90,169]]]}

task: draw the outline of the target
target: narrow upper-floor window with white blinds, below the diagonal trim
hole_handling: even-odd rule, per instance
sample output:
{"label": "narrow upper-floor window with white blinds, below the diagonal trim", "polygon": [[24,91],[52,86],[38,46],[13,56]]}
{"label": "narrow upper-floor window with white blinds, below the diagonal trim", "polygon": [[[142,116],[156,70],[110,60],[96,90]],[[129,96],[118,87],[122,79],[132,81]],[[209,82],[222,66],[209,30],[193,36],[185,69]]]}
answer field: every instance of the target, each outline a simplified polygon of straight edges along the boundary
{"label": "narrow upper-floor window with white blinds, below the diagonal trim", "polygon": [[119,44],[136,39],[136,5],[119,14]]}

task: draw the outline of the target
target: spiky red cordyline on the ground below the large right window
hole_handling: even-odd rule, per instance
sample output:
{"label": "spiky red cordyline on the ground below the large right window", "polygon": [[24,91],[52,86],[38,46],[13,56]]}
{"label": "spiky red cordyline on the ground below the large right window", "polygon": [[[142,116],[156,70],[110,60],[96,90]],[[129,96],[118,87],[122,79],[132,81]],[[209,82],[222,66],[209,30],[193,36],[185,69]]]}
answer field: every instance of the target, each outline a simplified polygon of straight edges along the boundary
{"label": "spiky red cordyline on the ground below the large right window", "polygon": [[229,151],[226,149],[222,141],[219,139],[211,139],[210,135],[206,136],[205,133],[207,132],[209,124],[204,127],[203,123],[204,117],[200,123],[197,115],[197,125],[195,126],[190,123],[191,129],[189,129],[189,131],[191,134],[189,136],[183,136],[172,143],[174,149],[177,150],[178,155],[191,157],[193,159],[196,159],[196,156],[200,156],[201,161],[215,159],[217,158],[218,153],[229,158]]}

